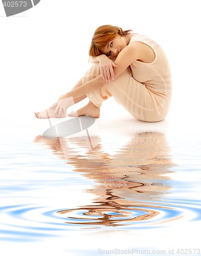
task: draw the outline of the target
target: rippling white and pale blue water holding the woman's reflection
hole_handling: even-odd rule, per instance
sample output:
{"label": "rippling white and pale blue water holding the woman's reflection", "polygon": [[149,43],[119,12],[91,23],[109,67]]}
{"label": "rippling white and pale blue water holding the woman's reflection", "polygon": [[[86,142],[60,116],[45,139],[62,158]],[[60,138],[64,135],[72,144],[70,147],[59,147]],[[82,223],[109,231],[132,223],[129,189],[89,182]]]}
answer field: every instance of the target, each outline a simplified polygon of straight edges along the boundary
{"label": "rippling white and pale blue water holding the woman's reflection", "polygon": [[91,138],[98,141],[94,148],[85,137],[4,143],[1,240],[41,241],[83,228],[163,228],[184,217],[200,221],[200,145],[192,138],[186,147],[183,138],[168,143],[158,133],[136,136],[121,146]]}

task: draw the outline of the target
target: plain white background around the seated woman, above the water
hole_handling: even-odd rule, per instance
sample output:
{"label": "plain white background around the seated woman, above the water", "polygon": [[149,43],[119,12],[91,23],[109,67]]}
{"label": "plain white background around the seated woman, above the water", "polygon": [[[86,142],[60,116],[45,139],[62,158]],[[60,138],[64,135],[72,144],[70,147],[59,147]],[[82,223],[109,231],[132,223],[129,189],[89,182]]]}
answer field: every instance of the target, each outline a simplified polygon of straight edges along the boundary
{"label": "plain white background around the seated woman, above the water", "polygon": [[[163,47],[173,77],[167,120],[175,129],[182,124],[182,130],[191,130],[200,109],[200,19],[198,0],[41,0],[11,17],[0,5],[2,133],[12,133],[13,124],[21,131],[28,123],[40,133],[43,121],[33,113],[54,103],[85,74],[91,37],[104,24],[146,34]],[[110,99],[101,115],[102,120],[121,120],[127,113]]]}

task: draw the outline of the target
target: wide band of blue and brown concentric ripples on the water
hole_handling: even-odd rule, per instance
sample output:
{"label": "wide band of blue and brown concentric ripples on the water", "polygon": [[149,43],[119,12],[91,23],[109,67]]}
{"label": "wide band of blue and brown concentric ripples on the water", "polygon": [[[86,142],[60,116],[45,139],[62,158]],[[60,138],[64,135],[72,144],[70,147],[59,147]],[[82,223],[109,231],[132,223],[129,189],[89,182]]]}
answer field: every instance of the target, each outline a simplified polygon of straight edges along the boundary
{"label": "wide band of blue and brown concentric ripples on the water", "polygon": [[133,227],[159,228],[180,218],[186,218],[186,221],[201,220],[200,202],[196,200],[180,200],[180,204],[149,202],[135,206],[113,202],[58,211],[31,204],[9,205],[1,207],[0,212],[1,220],[4,220],[0,223],[1,240],[15,242],[60,237],[66,230],[76,230],[86,225],[90,228],[110,226],[129,230]]}

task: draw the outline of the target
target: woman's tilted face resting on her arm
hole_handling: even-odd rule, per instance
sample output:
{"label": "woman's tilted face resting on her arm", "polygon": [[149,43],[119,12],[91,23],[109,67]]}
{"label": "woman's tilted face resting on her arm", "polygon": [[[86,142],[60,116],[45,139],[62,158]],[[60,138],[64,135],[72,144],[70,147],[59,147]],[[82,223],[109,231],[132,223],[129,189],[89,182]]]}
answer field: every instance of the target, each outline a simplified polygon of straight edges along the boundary
{"label": "woman's tilted face resting on her arm", "polygon": [[103,53],[107,56],[117,56],[119,52],[127,46],[124,37],[117,35],[113,40],[109,41],[107,46],[104,48]]}

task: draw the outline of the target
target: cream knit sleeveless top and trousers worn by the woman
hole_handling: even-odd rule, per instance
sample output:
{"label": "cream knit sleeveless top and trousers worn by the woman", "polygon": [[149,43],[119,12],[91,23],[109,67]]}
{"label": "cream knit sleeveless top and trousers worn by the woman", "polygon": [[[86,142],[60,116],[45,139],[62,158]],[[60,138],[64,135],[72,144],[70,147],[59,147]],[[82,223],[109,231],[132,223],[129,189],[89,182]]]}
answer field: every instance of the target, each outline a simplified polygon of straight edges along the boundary
{"label": "cream knit sleeveless top and trousers worn by the woman", "polygon": [[[147,122],[161,121],[167,116],[171,99],[171,71],[167,57],[162,48],[145,35],[134,34],[129,44],[134,41],[152,48],[154,61],[134,61],[114,81],[87,94],[87,97],[101,107],[103,101],[113,96],[135,118]],[[83,83],[99,74],[99,63],[95,63],[83,77]]]}

